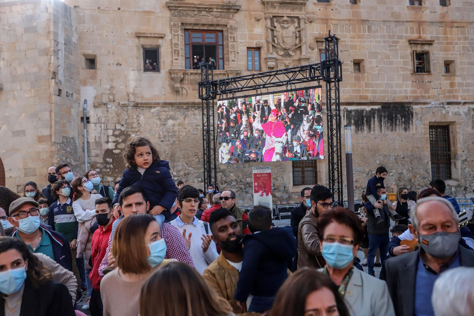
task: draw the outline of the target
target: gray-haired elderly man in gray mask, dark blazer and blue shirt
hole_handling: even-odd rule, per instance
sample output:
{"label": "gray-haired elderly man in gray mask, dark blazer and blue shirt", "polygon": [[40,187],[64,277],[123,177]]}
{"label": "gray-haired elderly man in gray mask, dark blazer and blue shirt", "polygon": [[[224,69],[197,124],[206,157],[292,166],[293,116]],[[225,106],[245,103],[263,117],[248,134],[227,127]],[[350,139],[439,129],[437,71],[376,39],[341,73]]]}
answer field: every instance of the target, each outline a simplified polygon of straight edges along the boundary
{"label": "gray-haired elderly man in gray mask, dark blazer and blue shirt", "polygon": [[459,218],[453,205],[438,196],[418,201],[408,225],[420,248],[383,263],[380,279],[387,282],[397,316],[434,316],[433,286],[441,272],[474,267],[474,251],[459,247]]}

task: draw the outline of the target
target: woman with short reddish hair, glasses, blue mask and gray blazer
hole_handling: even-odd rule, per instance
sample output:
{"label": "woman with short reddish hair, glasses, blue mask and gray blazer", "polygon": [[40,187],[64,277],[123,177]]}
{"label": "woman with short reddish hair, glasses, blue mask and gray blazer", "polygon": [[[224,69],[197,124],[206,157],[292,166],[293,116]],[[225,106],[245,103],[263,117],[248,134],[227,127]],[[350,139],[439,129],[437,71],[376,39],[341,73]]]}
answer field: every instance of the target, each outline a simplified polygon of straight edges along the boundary
{"label": "woman with short reddish hair, glasses, blue mask and gray blazer", "polygon": [[387,285],[354,267],[365,221],[339,206],[319,216],[320,248],[326,260],[320,271],[337,285],[351,316],[395,316]]}

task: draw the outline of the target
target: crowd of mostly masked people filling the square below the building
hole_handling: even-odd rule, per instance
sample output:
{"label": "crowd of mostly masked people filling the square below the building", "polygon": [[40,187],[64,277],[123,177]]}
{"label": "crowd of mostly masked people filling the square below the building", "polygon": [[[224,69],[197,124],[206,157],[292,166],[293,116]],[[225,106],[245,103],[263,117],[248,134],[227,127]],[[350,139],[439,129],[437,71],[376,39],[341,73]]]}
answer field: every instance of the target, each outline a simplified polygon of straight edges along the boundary
{"label": "crowd of mostly masked people filling the square below the building", "polygon": [[291,225],[276,227],[232,188],[175,184],[146,138],[123,156],[113,187],[67,163],[47,169],[41,192],[0,187],[4,315],[83,315],[82,299],[92,316],[474,315],[473,227],[460,227],[442,180],[391,203],[379,167],[360,214],[306,187]]}

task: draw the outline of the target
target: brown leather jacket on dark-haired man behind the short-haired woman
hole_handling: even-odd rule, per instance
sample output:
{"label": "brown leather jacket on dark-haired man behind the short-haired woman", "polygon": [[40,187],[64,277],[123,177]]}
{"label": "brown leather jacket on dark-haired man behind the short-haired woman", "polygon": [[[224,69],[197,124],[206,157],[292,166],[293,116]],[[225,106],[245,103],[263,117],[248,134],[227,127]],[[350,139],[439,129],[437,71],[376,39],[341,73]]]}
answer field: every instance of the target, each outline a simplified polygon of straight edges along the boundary
{"label": "brown leather jacket on dark-haired man behind the short-haired woman", "polygon": [[326,264],[319,247],[317,223],[318,217],[310,210],[298,226],[298,269],[322,268]]}

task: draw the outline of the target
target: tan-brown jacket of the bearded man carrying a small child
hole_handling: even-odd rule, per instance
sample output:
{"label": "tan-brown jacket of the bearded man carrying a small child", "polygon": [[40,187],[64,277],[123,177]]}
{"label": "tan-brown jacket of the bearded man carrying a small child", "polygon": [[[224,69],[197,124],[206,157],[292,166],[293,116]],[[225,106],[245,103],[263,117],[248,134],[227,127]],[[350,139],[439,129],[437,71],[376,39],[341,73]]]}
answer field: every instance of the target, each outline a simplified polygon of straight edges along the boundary
{"label": "tan-brown jacket of the bearded man carrying a small child", "polygon": [[234,294],[237,290],[238,270],[232,267],[221,253],[209,267],[202,272],[206,283],[220,296],[227,299],[237,316],[258,316],[260,313],[249,313],[237,306]]}

